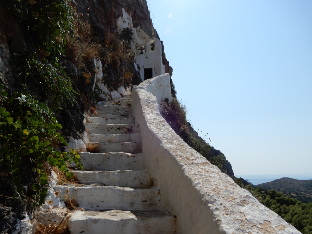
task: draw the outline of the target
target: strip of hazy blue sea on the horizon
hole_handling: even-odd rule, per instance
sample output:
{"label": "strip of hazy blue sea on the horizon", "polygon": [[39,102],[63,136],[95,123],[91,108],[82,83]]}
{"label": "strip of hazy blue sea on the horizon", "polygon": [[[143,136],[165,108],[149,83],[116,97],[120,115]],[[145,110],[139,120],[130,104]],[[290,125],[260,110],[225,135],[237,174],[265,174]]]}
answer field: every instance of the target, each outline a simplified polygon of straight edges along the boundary
{"label": "strip of hazy blue sea on the horizon", "polygon": [[243,178],[253,185],[271,182],[283,177],[293,178],[297,180],[311,180],[312,174],[271,174],[271,175],[235,175],[237,178]]}

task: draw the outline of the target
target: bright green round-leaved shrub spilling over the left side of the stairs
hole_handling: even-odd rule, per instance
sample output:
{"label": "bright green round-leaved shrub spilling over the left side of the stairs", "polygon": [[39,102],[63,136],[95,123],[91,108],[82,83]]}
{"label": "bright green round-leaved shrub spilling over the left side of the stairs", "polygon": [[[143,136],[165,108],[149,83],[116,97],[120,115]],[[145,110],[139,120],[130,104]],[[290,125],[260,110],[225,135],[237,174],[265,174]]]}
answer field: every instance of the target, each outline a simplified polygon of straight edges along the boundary
{"label": "bright green round-leaved shrub spilling over the left side of the stairs", "polygon": [[[0,90],[3,85],[0,84]],[[60,152],[55,148],[68,146],[64,137],[57,133],[62,128],[57,123],[53,113],[46,104],[36,100],[31,95],[15,93],[8,97],[8,93],[0,93],[2,100],[0,108],[0,172],[7,174],[12,185],[14,197],[21,197],[22,170],[37,173],[37,181],[32,188],[37,191],[33,205],[44,202],[48,183],[43,163],[49,162],[64,171],[71,178],[73,173],[67,168],[67,163],[79,165],[79,154],[73,149]]]}

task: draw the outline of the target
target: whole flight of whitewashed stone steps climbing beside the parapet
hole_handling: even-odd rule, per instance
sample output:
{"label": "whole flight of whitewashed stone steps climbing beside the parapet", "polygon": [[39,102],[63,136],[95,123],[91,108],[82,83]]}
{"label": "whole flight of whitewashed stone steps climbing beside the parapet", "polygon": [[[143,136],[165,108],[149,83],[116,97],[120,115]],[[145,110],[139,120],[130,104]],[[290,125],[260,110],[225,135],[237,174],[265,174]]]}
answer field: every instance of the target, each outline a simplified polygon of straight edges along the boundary
{"label": "whole flight of whitewashed stone steps climbing beside the parapet", "polygon": [[[113,103],[120,102],[120,105]],[[82,186],[59,185],[83,210],[73,211],[72,234],[173,234],[175,217],[161,209],[160,191],[143,167],[141,134],[131,118],[131,96],[104,102],[85,128],[100,153],[80,153],[85,171],[74,171]]]}

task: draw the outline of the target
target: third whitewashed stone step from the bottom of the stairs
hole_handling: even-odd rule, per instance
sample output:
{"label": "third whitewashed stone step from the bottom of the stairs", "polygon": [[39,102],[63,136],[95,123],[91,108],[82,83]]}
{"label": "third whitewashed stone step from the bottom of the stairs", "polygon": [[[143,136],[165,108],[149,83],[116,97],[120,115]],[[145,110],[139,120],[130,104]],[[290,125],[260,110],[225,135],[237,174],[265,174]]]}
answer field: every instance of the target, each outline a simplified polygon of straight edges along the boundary
{"label": "third whitewashed stone step from the bottom of the stairs", "polygon": [[102,184],[105,186],[120,186],[132,188],[149,188],[153,181],[148,170],[134,171],[74,171],[80,183]]}

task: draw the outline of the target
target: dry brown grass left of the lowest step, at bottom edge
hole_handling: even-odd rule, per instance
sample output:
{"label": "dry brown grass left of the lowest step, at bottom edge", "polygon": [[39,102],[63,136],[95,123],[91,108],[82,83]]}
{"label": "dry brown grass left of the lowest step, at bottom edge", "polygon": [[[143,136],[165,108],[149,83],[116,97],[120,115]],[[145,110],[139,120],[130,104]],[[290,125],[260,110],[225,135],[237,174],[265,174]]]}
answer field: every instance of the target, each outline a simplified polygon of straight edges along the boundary
{"label": "dry brown grass left of the lowest step, at bottom edge", "polygon": [[44,226],[41,223],[37,223],[35,233],[36,234],[69,234],[68,223],[70,215],[64,217],[57,225],[50,224]]}

